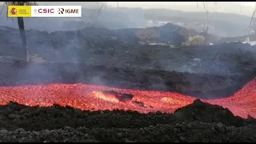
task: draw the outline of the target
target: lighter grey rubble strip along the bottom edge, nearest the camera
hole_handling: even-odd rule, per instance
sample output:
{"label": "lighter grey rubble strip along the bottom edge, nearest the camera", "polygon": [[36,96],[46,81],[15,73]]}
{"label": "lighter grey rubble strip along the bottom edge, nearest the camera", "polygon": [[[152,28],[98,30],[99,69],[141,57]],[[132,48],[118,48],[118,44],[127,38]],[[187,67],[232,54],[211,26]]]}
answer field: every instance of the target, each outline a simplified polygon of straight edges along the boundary
{"label": "lighter grey rubble strip along the bottom edge, nearest the camera", "polygon": [[[216,123],[203,122],[156,125],[141,129],[65,127],[58,130],[7,131],[6,134],[0,134],[0,139],[2,142],[254,142],[255,128],[218,126]],[[246,134],[244,130],[247,130]]]}

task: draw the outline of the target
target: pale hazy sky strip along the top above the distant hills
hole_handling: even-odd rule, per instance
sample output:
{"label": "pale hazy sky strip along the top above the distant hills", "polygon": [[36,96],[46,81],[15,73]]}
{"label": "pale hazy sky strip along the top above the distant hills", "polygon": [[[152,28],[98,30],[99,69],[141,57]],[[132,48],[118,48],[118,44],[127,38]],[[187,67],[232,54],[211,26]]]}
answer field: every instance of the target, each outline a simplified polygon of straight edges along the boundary
{"label": "pale hazy sky strip along the top above the distant hills", "polygon": [[[0,2],[2,4],[2,2]],[[82,5],[96,8],[96,2],[38,2],[39,5]],[[251,16],[255,2],[205,2],[207,10],[210,12],[235,13]],[[141,7],[141,8],[164,8],[182,11],[204,11],[202,2],[108,2],[110,7]]]}

